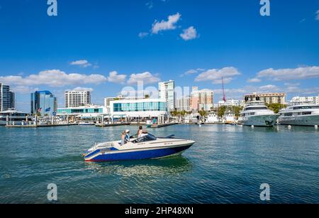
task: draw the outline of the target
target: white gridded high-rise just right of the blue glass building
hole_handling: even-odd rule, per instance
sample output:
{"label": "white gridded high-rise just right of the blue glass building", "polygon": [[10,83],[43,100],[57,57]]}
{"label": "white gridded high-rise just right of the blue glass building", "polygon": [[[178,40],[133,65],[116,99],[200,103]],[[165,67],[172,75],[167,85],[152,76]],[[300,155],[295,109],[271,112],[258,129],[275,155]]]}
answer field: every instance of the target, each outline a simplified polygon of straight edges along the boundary
{"label": "white gridded high-rise just right of the blue glass building", "polygon": [[66,91],[65,107],[80,107],[91,104],[91,92],[89,91]]}

